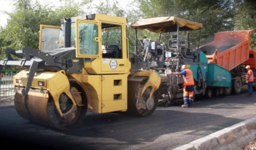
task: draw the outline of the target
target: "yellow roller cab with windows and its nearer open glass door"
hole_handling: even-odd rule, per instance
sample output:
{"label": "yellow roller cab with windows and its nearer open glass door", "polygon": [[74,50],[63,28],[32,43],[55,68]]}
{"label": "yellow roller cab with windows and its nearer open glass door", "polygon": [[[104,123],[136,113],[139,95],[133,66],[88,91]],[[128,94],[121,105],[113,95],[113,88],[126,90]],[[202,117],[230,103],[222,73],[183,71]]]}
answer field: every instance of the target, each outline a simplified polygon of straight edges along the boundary
{"label": "yellow roller cab with windows and its nearer open glass door", "polygon": [[112,22],[76,19],[76,57],[85,58],[88,73],[129,72],[125,27]]}

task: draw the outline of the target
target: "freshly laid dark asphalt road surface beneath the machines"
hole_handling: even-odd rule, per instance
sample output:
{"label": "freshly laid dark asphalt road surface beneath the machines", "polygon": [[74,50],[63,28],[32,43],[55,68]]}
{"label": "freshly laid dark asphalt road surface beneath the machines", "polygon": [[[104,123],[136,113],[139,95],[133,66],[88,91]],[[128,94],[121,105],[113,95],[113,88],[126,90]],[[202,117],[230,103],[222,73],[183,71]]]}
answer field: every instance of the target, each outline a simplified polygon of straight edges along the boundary
{"label": "freshly laid dark asphalt road surface beneath the machines", "polygon": [[[127,146],[153,142],[165,134],[175,136],[178,132],[205,136],[243,120],[213,114],[211,111],[204,112],[205,110],[201,109],[242,109],[243,105],[256,102],[253,97],[243,96],[246,94],[245,92],[222,98],[198,99],[192,108],[158,107],[148,117],[89,112],[80,128],[70,131],[57,131],[25,120],[20,125],[9,120],[9,125],[2,125],[0,122],[0,134],[5,140],[15,141],[16,144],[30,144],[31,147],[41,146],[41,148],[54,146],[58,149],[123,149]],[[220,102],[222,104],[218,105]],[[233,107],[231,103],[237,103],[238,106]],[[189,112],[189,109],[198,111]],[[28,130],[30,128],[32,130]]]}

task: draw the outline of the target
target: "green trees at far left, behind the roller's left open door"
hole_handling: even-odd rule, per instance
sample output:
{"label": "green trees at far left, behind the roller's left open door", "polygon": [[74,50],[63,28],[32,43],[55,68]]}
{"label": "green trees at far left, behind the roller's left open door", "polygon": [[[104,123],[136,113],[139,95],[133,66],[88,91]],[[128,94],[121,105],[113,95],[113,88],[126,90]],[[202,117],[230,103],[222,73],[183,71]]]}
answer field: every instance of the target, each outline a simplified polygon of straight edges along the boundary
{"label": "green trees at far left, behind the roller's left open door", "polygon": [[[91,0],[88,0],[91,2]],[[74,3],[71,0],[60,1],[64,5],[54,8],[39,4],[38,1],[16,0],[15,10],[7,13],[9,18],[5,28],[1,27],[1,57],[4,57],[3,47],[21,49],[26,45],[38,48],[40,24],[60,26],[60,19],[82,15],[86,1]]]}

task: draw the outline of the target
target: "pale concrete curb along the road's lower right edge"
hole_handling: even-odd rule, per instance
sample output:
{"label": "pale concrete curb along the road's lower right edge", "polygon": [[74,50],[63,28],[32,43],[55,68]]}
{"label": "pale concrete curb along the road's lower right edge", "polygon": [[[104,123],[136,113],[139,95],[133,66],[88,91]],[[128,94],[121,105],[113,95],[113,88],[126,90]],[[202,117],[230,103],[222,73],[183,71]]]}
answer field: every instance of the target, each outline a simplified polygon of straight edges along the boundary
{"label": "pale concrete curb along the road's lower right edge", "polygon": [[207,150],[223,146],[239,136],[245,136],[250,130],[256,129],[256,116],[233,126],[214,132],[208,136],[194,140],[188,144],[177,147],[174,150]]}

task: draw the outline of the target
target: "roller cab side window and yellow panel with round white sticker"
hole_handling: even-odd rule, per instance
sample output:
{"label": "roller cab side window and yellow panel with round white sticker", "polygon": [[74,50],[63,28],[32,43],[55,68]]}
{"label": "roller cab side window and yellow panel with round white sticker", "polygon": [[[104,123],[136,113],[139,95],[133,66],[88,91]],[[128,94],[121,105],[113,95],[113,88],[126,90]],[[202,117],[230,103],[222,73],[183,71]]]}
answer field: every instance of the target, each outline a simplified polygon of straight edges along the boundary
{"label": "roller cab side window and yellow panel with round white sticker", "polygon": [[124,25],[101,22],[101,71],[125,71],[126,46]]}

